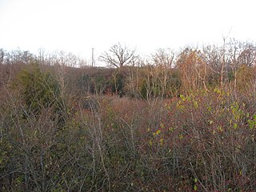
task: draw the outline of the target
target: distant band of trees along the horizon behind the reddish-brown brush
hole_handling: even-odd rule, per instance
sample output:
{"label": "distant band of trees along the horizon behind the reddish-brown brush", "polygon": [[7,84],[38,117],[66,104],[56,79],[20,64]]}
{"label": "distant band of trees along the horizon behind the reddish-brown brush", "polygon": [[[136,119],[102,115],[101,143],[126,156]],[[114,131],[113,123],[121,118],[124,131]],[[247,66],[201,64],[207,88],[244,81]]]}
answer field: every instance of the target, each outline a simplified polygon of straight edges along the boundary
{"label": "distant band of trees along the horizon behind the reddish-brown brush", "polygon": [[91,67],[74,54],[38,54],[0,50],[1,83],[14,79],[24,66],[37,63],[50,70],[65,91],[119,94],[144,98],[172,98],[192,90],[215,87],[234,93],[256,90],[256,46],[230,39],[221,46],[186,47],[174,52],[158,49],[146,58],[118,43],[98,58],[106,67]]}

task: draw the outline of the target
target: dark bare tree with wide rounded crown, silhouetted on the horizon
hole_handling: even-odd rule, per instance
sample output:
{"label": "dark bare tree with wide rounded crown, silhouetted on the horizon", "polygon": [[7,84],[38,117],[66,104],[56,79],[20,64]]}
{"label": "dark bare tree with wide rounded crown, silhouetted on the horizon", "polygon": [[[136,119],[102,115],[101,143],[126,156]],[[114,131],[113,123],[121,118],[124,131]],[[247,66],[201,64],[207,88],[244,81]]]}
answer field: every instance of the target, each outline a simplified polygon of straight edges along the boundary
{"label": "dark bare tree with wide rounded crown, silhouetted on the horizon", "polygon": [[135,50],[130,50],[126,46],[122,46],[120,43],[111,46],[109,51],[106,51],[100,59],[102,62],[106,62],[108,66],[122,67],[133,63],[136,59]]}

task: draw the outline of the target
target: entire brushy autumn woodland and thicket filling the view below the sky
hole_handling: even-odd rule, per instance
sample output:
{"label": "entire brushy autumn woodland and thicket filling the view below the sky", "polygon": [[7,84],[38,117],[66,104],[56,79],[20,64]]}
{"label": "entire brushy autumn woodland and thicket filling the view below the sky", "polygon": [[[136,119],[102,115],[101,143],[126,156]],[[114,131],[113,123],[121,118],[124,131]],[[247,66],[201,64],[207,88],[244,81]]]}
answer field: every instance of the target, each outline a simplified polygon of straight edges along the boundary
{"label": "entire brushy autumn woodland and thicket filling the view below the sky", "polygon": [[254,43],[99,61],[0,50],[0,191],[256,189]]}

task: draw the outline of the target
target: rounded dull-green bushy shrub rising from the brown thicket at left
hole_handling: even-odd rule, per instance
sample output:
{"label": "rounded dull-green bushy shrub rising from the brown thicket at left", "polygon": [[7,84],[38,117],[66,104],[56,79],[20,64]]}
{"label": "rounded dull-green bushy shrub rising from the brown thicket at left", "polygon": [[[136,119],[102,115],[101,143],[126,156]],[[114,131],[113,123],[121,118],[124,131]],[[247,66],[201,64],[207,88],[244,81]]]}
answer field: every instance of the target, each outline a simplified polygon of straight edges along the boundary
{"label": "rounded dull-green bushy shrub rising from the brown thicket at left", "polygon": [[14,82],[14,88],[21,90],[25,103],[25,114],[40,114],[43,109],[63,110],[61,90],[54,74],[42,70],[37,63],[26,66]]}

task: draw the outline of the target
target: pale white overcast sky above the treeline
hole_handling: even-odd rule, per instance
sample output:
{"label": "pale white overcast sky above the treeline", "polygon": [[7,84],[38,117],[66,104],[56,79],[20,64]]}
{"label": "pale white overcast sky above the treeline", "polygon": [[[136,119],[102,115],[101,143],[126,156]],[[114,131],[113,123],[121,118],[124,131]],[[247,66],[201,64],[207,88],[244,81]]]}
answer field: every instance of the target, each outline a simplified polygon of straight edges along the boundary
{"label": "pale white overcast sky above the treeline", "polygon": [[255,42],[254,0],[0,0],[0,48],[64,50],[90,59],[121,42],[158,48]]}

